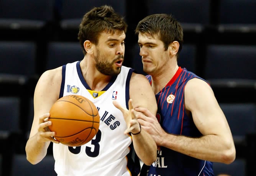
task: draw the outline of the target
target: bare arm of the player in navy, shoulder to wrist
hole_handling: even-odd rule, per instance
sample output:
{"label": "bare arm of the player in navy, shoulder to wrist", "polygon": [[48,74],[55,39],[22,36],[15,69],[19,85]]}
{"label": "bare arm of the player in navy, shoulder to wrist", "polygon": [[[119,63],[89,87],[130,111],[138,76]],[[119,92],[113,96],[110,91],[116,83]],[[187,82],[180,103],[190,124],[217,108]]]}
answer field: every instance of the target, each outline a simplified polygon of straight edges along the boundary
{"label": "bare arm of the player in navy, shoulder to wrist", "polygon": [[160,145],[202,160],[229,164],[235,160],[235,145],[223,111],[208,84],[200,79],[187,82],[185,109],[190,111],[202,137],[167,134]]}

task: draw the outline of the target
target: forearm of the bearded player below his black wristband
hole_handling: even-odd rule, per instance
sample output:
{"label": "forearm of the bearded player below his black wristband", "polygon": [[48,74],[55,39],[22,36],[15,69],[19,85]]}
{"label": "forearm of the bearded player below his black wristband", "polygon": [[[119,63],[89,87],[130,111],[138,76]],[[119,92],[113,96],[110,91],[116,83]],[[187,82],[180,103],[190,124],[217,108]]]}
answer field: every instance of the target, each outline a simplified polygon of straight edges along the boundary
{"label": "forearm of the bearded player below his black wristband", "polygon": [[132,134],[132,138],[135,152],[143,163],[151,165],[156,161],[156,143],[146,131],[141,128],[141,132],[136,135]]}

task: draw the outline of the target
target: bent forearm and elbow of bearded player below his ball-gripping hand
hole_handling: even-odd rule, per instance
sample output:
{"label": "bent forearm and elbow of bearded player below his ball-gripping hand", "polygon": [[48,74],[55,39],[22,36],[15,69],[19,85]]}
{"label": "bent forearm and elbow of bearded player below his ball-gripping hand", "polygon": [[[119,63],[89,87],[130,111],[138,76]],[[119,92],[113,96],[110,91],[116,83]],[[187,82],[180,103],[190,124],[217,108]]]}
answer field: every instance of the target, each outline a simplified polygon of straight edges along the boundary
{"label": "bent forearm and elbow of bearded player below his ball-gripping hand", "polygon": [[37,164],[46,156],[49,142],[39,142],[37,136],[34,135],[28,139],[26,143],[26,157],[27,160],[32,164]]}

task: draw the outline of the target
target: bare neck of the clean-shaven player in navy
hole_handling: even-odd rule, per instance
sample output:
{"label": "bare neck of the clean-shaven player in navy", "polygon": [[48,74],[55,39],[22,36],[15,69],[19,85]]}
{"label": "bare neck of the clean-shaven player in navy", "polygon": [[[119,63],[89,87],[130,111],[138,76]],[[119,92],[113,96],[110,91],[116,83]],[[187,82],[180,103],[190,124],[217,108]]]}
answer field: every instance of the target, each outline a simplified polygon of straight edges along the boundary
{"label": "bare neck of the clean-shaven player in navy", "polygon": [[173,68],[166,69],[165,71],[159,71],[158,74],[152,75],[152,89],[155,94],[160,92],[166,86],[178,69],[179,66],[176,65]]}

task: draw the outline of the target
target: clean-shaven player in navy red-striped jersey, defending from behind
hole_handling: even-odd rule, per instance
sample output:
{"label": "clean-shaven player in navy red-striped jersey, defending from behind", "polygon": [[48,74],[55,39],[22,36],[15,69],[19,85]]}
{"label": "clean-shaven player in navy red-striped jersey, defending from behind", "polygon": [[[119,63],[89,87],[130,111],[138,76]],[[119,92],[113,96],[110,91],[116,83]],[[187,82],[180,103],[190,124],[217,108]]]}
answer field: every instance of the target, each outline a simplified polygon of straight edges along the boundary
{"label": "clean-shaven player in navy red-striped jersey, defending from behind", "polygon": [[135,108],[145,114],[138,121],[158,145],[157,160],[143,165],[140,176],[213,176],[213,162],[235,160],[235,145],[209,84],[177,65],[181,25],[171,15],[155,14],[142,19],[135,33],[158,103],[156,116]]}

